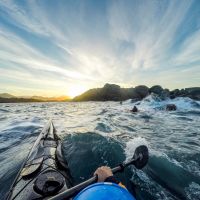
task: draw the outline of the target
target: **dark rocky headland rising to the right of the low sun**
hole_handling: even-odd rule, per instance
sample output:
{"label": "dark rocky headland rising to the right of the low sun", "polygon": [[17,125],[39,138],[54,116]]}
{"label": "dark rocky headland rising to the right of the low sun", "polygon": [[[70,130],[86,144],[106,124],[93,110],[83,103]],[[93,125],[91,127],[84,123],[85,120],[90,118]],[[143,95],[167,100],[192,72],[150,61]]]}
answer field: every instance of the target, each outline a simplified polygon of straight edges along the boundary
{"label": "dark rocky headland rising to the right of the low sun", "polygon": [[121,88],[115,84],[105,84],[103,88],[90,89],[83,94],[76,96],[73,101],[124,101],[127,99],[141,100],[149,94],[157,94],[160,99],[190,97],[200,100],[200,87],[175,89],[163,89],[160,85],[148,88],[145,85],[139,85],[135,88]]}

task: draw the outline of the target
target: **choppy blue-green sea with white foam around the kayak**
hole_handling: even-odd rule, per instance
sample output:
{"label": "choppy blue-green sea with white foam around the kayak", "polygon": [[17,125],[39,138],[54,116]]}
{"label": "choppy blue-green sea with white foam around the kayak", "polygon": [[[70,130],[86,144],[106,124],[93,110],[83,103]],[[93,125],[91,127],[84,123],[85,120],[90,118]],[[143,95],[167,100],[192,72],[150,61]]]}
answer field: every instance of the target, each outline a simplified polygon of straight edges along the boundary
{"label": "choppy blue-green sea with white foam around the kayak", "polygon": [[[167,112],[167,103],[177,111]],[[129,110],[137,105],[140,112]],[[0,199],[49,118],[63,140],[74,183],[101,165],[114,167],[146,144],[150,160],[118,178],[137,199],[200,199],[200,102],[189,98],[141,102],[0,104]]]}

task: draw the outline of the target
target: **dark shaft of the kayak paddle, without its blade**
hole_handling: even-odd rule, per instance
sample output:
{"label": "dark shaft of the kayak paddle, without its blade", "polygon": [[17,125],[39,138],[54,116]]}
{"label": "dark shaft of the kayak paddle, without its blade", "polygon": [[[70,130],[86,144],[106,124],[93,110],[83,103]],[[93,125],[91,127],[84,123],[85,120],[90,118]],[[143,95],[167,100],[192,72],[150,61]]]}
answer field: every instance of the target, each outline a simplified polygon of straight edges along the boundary
{"label": "dark shaft of the kayak paddle, without its blade", "polygon": [[[115,174],[117,172],[122,172],[124,170],[125,167],[132,165],[136,162],[138,158],[136,159],[132,159],[130,161],[128,161],[127,163],[122,163],[119,166],[115,167],[112,169],[112,173]],[[81,190],[83,190],[84,188],[86,188],[87,186],[96,183],[98,180],[97,175],[93,176],[92,178],[88,179],[87,181],[84,181],[58,195],[56,195],[55,197],[50,198],[49,200],[64,200],[64,199],[69,199],[70,197],[73,197],[74,195],[78,194]]]}

